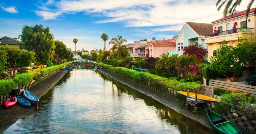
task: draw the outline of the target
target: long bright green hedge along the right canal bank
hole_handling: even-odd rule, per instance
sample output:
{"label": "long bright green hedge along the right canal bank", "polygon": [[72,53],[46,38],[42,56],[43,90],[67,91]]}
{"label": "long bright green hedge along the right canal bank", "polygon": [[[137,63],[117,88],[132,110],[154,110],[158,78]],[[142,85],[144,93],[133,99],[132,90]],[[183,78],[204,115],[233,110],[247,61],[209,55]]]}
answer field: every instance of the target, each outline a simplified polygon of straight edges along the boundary
{"label": "long bright green hedge along the right canal bank", "polygon": [[103,66],[104,69],[109,69],[110,71],[120,74],[123,77],[133,79],[136,82],[149,84],[151,86],[155,86],[160,90],[168,90],[168,88],[172,91],[191,91],[191,92],[200,92],[201,84],[197,82],[185,82],[185,81],[177,81],[176,79],[168,79],[165,77],[161,77],[158,75],[154,75],[148,72],[138,72],[135,70],[123,68],[123,67],[113,67],[111,65],[106,64],[98,64]]}

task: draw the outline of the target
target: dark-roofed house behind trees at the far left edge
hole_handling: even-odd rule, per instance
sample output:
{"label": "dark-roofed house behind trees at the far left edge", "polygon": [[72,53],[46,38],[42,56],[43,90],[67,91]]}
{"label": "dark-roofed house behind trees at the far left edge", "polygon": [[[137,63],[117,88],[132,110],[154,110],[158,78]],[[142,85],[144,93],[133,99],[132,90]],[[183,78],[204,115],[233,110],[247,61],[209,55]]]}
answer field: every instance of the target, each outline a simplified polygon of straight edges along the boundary
{"label": "dark-roofed house behind trees at the far left edge", "polygon": [[23,44],[21,41],[17,41],[13,38],[4,36],[4,37],[2,37],[0,47],[4,47],[6,45],[11,46],[11,47],[18,47],[18,48],[23,47]]}

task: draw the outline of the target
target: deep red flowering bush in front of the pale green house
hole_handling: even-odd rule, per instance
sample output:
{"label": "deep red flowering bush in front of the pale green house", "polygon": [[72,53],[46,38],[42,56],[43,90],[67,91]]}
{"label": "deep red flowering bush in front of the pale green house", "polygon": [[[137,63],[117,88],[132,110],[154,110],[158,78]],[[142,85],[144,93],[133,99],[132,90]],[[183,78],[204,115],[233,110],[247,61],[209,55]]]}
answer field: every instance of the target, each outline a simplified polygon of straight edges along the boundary
{"label": "deep red flowering bush in front of the pale green house", "polygon": [[206,48],[202,46],[197,46],[196,44],[188,45],[182,48],[183,55],[188,54],[188,56],[194,55],[196,56],[197,60],[201,63],[204,63],[204,57],[207,55],[208,51]]}

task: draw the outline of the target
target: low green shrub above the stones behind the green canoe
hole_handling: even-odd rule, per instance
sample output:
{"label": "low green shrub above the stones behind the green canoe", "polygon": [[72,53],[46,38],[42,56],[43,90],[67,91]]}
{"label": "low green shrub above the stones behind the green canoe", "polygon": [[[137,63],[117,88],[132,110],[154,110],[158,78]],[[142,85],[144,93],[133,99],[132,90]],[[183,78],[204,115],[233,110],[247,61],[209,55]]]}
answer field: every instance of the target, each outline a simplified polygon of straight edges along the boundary
{"label": "low green shrub above the stones behind the green canoe", "polygon": [[246,100],[246,96],[242,93],[229,93],[221,95],[220,102],[226,109],[243,109],[244,106],[247,106],[249,103]]}

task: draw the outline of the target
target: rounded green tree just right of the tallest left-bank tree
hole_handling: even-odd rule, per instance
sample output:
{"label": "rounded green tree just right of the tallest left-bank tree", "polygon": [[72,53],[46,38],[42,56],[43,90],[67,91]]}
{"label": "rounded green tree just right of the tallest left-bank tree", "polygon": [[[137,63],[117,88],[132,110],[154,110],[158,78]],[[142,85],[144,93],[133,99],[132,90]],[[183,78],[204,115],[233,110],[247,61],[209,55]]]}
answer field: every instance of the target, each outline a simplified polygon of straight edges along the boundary
{"label": "rounded green tree just right of the tallest left-bank tree", "polygon": [[57,62],[62,61],[64,59],[68,59],[71,55],[71,51],[69,51],[66,47],[66,45],[61,41],[54,41],[54,44],[56,46],[55,48],[55,59]]}

